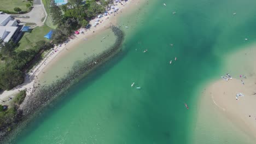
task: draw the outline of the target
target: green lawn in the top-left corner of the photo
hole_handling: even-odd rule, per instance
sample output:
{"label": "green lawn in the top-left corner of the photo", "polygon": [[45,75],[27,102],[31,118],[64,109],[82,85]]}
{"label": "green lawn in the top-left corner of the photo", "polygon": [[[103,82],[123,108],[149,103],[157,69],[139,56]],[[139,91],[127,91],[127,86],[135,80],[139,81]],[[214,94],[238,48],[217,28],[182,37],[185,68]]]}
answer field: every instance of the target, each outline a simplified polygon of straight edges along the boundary
{"label": "green lawn in the top-left corner of the photo", "polygon": [[26,0],[0,0],[0,10],[14,11],[15,7],[19,7],[22,11],[27,10],[26,4],[30,3]]}

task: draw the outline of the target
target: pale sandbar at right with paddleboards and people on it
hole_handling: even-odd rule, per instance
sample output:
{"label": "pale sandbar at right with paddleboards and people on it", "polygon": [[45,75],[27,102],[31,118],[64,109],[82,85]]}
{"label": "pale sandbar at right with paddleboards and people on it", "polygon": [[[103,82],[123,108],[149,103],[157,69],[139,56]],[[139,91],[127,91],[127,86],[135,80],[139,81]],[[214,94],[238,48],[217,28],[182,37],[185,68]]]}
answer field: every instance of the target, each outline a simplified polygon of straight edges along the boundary
{"label": "pale sandbar at right with paddleboards and people on it", "polygon": [[[247,139],[251,140],[256,139],[255,54],[254,44],[226,57],[223,71],[229,73],[232,79],[225,81],[219,77],[219,80],[211,82],[202,92],[202,101],[199,104],[200,109],[221,113],[217,117],[224,117],[224,123],[228,122],[238,129],[237,134],[246,134],[249,137]],[[223,72],[223,75],[226,73]],[[238,93],[245,96],[236,96]],[[206,113],[200,110],[198,115],[203,117],[200,115],[208,115]],[[213,119],[209,118],[207,121]]]}

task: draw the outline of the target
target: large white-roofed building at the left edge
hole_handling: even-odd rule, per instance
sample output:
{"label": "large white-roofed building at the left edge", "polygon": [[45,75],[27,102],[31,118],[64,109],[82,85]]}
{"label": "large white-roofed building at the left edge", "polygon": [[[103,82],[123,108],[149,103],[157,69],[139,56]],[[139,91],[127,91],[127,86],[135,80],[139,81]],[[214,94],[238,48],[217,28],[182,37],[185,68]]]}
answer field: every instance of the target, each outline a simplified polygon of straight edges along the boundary
{"label": "large white-roofed building at the left edge", "polygon": [[0,38],[4,42],[10,41],[18,29],[18,22],[11,15],[2,14],[0,11]]}

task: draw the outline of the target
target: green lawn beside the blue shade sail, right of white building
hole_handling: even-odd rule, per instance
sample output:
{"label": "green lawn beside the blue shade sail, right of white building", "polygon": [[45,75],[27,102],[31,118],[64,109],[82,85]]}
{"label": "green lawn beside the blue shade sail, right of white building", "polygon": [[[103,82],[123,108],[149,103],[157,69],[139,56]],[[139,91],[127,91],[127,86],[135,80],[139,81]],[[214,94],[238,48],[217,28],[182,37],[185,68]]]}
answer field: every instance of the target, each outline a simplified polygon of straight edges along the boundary
{"label": "green lawn beside the blue shade sail, right of white building", "polygon": [[37,41],[48,40],[44,38],[44,35],[50,30],[50,27],[43,25],[32,29],[31,33],[25,33],[19,41],[19,47],[16,49],[16,51],[31,49],[34,45],[36,45]]}

